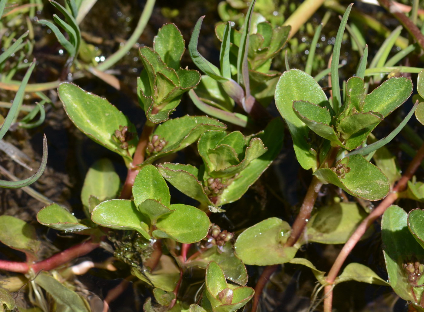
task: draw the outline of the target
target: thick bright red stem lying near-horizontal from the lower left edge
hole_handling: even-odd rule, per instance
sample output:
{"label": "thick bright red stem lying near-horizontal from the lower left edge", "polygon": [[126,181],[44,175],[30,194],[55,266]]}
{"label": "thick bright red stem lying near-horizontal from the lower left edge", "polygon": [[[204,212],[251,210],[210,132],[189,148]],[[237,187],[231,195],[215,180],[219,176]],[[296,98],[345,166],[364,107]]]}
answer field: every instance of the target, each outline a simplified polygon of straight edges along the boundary
{"label": "thick bright red stem lying near-horizontal from the lower left edge", "polygon": [[0,270],[6,270],[9,272],[18,272],[18,273],[27,273],[29,269],[38,272],[40,270],[53,270],[60,265],[64,265],[71,260],[78,258],[79,256],[84,256],[90,251],[96,249],[100,243],[92,242],[92,240],[87,240],[81,244],[75,245],[71,248],[68,248],[64,251],[56,253],[55,255],[36,262],[34,264],[28,264],[27,262],[14,262],[7,260],[0,260]]}

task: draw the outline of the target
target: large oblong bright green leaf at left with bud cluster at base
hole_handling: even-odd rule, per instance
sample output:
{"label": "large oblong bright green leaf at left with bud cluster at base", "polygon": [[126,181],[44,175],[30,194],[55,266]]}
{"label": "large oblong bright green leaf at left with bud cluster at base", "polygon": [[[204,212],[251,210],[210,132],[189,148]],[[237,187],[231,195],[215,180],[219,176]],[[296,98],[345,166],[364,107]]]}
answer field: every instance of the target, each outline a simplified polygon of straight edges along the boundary
{"label": "large oblong bright green leaf at left with bud cluster at base", "polygon": [[[122,112],[105,98],[86,92],[75,84],[61,83],[58,92],[66,113],[78,129],[131,162],[130,155],[134,153],[138,142],[137,131]],[[128,141],[128,150],[113,139],[120,126],[128,127],[128,132],[134,134]]]}

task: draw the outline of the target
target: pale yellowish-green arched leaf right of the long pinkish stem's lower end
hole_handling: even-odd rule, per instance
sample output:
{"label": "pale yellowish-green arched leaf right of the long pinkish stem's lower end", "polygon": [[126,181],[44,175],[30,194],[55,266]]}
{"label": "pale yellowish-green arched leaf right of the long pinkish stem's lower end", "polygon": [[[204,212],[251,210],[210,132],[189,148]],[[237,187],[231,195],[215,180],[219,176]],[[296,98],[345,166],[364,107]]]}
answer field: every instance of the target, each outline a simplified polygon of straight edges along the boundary
{"label": "pale yellowish-green arched leaf right of the long pinkish stem's lower end", "polygon": [[344,281],[359,281],[362,283],[390,286],[390,284],[379,277],[373,270],[360,263],[349,263],[334,283],[340,284]]}

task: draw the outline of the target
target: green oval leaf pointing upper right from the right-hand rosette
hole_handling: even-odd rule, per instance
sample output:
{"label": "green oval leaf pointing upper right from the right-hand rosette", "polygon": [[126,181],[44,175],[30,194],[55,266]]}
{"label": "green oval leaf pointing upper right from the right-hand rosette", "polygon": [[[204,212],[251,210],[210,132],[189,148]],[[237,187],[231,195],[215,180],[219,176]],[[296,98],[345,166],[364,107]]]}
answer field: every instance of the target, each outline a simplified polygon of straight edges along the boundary
{"label": "green oval leaf pointing upper right from the right-hand rosette", "polygon": [[378,112],[386,117],[410,97],[412,87],[409,78],[389,78],[365,97],[363,111]]}

